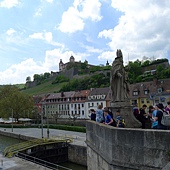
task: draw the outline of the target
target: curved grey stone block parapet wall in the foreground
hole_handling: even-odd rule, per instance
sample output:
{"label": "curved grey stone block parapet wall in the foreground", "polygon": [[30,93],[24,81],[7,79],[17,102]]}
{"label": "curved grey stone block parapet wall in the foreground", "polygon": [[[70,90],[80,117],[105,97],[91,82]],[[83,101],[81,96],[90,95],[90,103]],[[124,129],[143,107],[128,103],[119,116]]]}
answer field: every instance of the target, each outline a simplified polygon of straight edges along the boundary
{"label": "curved grey stone block parapet wall in the foreground", "polygon": [[87,121],[88,170],[158,170],[170,160],[170,131],[115,128]]}

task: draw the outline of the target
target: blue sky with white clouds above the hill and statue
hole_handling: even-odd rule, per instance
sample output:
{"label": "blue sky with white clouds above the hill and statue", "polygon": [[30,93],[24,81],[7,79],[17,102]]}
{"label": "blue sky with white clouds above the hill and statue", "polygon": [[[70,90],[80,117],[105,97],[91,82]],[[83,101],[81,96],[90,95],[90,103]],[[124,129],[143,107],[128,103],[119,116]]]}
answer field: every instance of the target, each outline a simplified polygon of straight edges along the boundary
{"label": "blue sky with white clouds above the hill and statue", "polygon": [[[0,0],[0,85],[59,71],[59,61],[170,59],[169,0]],[[145,56],[145,57],[144,57]]]}

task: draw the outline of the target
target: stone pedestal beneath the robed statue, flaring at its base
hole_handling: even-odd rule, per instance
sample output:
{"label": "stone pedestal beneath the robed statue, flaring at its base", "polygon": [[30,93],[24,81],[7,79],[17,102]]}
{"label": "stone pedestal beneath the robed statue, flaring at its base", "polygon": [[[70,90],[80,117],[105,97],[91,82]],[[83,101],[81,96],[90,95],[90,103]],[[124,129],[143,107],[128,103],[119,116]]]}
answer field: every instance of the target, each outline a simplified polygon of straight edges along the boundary
{"label": "stone pedestal beneath the robed statue, flaring at its base", "polygon": [[120,110],[120,115],[123,119],[125,119],[126,128],[141,127],[141,123],[133,115],[133,107],[130,105],[129,101],[111,102],[110,109],[113,113],[114,118],[116,118],[116,111]]}

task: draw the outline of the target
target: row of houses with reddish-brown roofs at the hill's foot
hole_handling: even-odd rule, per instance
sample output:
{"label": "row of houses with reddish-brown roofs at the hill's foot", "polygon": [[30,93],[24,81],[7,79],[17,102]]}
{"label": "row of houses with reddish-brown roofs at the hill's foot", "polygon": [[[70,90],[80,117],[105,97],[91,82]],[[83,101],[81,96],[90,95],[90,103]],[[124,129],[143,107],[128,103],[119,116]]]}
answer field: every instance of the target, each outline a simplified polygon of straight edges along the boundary
{"label": "row of houses with reddish-brown roofs at the hill's foot", "polygon": [[[143,104],[155,105],[170,101],[170,79],[157,80],[151,82],[142,82],[129,85],[129,102],[132,106],[139,108]],[[92,88],[90,90],[70,91],[60,93],[50,93],[41,100],[36,100],[35,105],[40,112],[49,117],[59,116],[60,118],[69,118],[77,116],[80,119],[89,118],[90,109],[97,109],[98,105],[110,107],[111,91],[110,87]]]}

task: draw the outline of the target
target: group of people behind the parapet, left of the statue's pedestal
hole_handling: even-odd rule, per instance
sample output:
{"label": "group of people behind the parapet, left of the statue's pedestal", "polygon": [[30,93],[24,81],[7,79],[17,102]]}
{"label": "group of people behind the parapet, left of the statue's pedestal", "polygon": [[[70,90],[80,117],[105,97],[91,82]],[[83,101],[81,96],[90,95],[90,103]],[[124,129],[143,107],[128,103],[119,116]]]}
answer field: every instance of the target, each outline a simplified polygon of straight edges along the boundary
{"label": "group of people behind the parapet, left of the statue's pedestal", "polygon": [[125,127],[124,119],[120,116],[119,110],[116,111],[116,118],[114,118],[108,107],[102,108],[102,105],[98,105],[96,110],[90,109],[91,120],[114,127]]}

